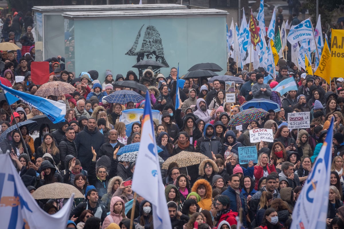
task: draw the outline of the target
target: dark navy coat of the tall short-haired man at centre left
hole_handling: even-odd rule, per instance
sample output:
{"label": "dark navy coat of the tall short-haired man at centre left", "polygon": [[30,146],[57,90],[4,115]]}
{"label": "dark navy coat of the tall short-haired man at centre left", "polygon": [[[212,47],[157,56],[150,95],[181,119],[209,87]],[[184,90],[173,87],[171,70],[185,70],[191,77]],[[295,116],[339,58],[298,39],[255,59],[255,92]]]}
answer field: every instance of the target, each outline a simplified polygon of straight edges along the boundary
{"label": "dark navy coat of the tall short-haired man at centre left", "polygon": [[[105,143],[104,136],[98,131],[96,127],[94,131],[88,130],[85,126],[84,130],[75,138],[75,146],[78,151],[77,159],[81,162],[83,168],[89,170],[89,162],[92,161],[92,146],[96,153],[99,152],[100,147]],[[111,157],[112,158],[112,157]]]}

